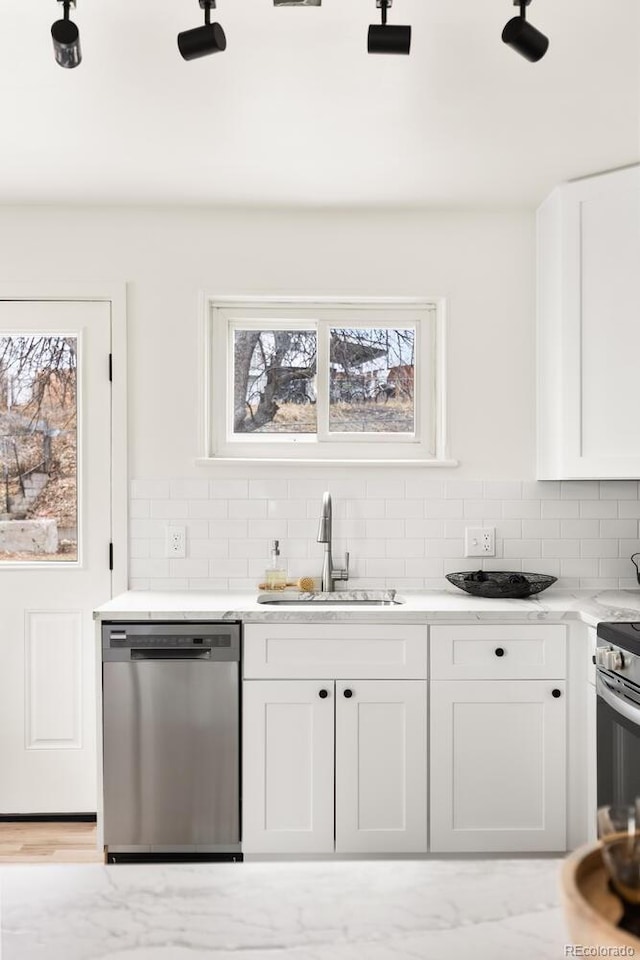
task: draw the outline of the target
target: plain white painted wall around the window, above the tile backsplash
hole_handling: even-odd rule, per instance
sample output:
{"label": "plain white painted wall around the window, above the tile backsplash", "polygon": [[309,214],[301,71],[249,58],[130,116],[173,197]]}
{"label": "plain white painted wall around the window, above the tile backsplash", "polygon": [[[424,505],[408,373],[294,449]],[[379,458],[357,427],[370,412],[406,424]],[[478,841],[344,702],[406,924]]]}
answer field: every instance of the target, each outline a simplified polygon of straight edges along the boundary
{"label": "plain white painted wall around the window, above the tile backsplash", "polygon": [[[196,158],[194,177],[200,169]],[[532,478],[534,255],[524,211],[0,210],[2,281],[128,283],[131,477],[202,475],[198,293],[207,291],[445,296],[455,476]]]}

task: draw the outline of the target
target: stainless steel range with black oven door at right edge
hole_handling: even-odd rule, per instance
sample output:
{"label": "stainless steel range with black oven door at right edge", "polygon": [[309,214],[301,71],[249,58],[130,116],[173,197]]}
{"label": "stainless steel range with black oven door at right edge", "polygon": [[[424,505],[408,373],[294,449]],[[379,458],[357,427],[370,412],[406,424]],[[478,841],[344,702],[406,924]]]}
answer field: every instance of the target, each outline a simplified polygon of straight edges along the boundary
{"label": "stainless steel range with black oven door at right edge", "polygon": [[640,797],[640,623],[599,623],[598,806]]}

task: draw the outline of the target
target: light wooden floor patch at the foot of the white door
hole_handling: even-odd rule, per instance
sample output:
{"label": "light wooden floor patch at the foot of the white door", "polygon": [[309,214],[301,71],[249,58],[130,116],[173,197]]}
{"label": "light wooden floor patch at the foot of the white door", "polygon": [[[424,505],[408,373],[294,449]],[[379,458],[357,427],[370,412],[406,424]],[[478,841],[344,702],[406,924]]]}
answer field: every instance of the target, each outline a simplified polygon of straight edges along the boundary
{"label": "light wooden floor patch at the foot of the white door", "polygon": [[95,823],[0,822],[0,864],[103,862]]}

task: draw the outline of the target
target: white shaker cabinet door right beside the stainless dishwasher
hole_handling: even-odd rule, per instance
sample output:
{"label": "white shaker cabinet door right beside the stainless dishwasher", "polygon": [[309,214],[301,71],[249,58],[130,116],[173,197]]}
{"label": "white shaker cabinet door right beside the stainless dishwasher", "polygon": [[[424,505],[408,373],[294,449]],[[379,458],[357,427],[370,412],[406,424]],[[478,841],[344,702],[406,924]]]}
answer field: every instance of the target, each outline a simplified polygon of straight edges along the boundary
{"label": "white shaker cabinet door right beside the stainless dishwasher", "polygon": [[243,686],[244,853],[333,851],[333,680]]}

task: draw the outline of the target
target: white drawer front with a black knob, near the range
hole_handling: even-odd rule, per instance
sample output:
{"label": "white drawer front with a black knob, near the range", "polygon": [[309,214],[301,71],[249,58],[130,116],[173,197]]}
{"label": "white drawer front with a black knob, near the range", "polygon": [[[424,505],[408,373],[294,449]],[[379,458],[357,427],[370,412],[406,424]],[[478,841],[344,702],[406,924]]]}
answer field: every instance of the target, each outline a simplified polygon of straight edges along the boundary
{"label": "white drawer front with a black knob, near the range", "polygon": [[433,680],[544,680],[565,676],[565,627],[432,627]]}

